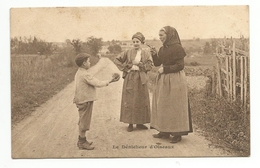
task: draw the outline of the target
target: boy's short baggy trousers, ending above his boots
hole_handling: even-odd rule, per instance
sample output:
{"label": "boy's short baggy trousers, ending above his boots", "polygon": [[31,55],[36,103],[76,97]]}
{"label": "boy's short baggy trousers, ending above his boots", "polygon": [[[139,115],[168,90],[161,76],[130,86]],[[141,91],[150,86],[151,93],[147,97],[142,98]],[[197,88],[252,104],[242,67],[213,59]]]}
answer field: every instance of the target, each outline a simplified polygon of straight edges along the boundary
{"label": "boy's short baggy trousers, ending above his boots", "polygon": [[76,104],[79,111],[79,130],[87,131],[90,128],[91,115],[93,109],[93,101],[82,104]]}

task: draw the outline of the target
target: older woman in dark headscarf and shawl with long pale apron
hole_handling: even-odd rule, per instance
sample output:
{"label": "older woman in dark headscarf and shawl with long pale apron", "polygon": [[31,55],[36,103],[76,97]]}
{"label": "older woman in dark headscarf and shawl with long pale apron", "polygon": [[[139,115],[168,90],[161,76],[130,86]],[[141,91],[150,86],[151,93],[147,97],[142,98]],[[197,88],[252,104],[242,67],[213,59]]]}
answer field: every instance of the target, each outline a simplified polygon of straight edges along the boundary
{"label": "older woman in dark headscarf and shawl with long pale apron", "polygon": [[157,53],[154,47],[151,54],[158,69],[153,91],[151,127],[159,131],[154,138],[169,138],[171,143],[181,141],[183,135],[192,132],[187,82],[185,79],[184,57],[175,28],[166,26],[159,31],[163,46]]}

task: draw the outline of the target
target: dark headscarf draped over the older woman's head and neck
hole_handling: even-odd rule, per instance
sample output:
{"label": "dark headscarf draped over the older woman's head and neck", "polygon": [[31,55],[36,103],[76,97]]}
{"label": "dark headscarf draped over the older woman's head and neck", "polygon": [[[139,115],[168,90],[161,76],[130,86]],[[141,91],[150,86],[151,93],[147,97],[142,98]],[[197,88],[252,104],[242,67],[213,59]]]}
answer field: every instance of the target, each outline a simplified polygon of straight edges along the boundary
{"label": "dark headscarf draped over the older woman's head and neck", "polygon": [[160,31],[164,31],[167,35],[165,42],[163,43],[164,46],[169,46],[173,44],[180,44],[181,40],[177,30],[171,26],[165,26]]}

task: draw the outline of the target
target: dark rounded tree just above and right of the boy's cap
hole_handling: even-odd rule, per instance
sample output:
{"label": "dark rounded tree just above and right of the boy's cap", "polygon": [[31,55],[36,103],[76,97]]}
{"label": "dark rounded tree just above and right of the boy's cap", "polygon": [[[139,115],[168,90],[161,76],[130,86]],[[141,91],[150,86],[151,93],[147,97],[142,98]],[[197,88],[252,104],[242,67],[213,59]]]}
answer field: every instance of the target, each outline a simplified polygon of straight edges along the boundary
{"label": "dark rounded tree just above and right of the boy's cap", "polygon": [[102,38],[95,38],[93,36],[87,39],[87,48],[91,55],[97,55],[102,49]]}

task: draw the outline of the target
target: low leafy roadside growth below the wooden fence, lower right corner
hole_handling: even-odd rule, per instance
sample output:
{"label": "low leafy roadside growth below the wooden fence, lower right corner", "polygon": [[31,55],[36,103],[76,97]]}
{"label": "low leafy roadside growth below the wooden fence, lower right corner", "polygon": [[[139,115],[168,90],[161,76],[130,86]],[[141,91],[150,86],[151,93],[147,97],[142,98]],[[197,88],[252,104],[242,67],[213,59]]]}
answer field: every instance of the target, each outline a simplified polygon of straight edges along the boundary
{"label": "low leafy roadside growth below the wooden fence, lower right corner", "polygon": [[207,90],[190,90],[193,123],[215,146],[250,155],[250,112]]}

